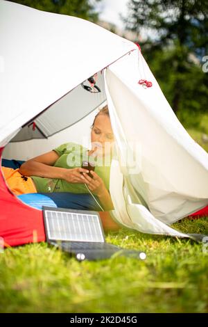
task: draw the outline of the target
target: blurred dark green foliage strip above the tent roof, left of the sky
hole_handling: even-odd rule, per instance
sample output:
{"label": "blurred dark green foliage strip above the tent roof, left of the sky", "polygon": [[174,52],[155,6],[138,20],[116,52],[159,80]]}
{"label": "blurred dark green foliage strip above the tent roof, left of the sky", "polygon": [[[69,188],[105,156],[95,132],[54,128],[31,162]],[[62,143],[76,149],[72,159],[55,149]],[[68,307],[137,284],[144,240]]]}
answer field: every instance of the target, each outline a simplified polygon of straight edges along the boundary
{"label": "blurred dark green foliage strip above the tent roof, left of the sky", "polygon": [[95,4],[99,1],[101,0],[14,0],[12,2],[51,13],[76,16],[96,22],[98,13],[95,10]]}

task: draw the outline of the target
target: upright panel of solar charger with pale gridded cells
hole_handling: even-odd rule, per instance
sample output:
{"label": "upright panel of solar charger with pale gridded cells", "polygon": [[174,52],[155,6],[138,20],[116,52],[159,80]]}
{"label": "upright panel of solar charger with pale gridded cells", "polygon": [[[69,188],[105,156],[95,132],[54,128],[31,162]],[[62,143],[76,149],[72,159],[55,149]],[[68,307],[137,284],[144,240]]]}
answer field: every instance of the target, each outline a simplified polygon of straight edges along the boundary
{"label": "upright panel of solar charger with pale gridded cells", "polygon": [[48,237],[61,241],[104,242],[101,223],[96,214],[44,210]]}

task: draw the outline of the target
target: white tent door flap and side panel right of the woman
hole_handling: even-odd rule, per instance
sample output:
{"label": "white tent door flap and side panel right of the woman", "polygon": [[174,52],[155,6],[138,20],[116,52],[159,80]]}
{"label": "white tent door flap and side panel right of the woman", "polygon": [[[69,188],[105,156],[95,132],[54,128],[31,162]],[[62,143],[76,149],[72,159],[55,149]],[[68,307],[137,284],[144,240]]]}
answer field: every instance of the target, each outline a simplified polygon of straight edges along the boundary
{"label": "white tent door flap and side panel right of the woman", "polygon": [[[169,224],[208,204],[208,154],[177,120],[140,51],[110,65],[105,83],[122,172],[111,171],[114,216],[142,232],[174,235]],[[128,154],[133,167],[121,165]]]}

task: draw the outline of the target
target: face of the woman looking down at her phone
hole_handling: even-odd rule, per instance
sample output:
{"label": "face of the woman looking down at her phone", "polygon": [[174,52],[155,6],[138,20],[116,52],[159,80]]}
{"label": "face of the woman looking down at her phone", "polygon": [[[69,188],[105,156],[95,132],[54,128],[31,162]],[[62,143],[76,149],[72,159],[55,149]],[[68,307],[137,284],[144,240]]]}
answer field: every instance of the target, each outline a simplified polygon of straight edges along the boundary
{"label": "face of the woman looking down at her phone", "polygon": [[91,132],[92,150],[97,147],[96,154],[104,156],[110,154],[114,145],[114,134],[108,115],[97,115]]}

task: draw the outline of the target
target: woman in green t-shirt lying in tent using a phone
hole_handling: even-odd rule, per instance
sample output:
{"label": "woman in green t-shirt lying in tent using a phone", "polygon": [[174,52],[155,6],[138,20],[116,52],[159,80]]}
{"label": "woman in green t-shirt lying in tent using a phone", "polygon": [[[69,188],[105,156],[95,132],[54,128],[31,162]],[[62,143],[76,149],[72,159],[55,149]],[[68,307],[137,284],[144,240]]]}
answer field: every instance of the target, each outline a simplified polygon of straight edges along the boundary
{"label": "woman in green t-shirt lying in tent using a phone", "polygon": [[[92,150],[76,143],[65,143],[24,162],[18,169],[2,167],[3,175],[17,196],[70,192],[85,199],[88,194],[88,202],[90,199],[90,204],[96,205],[104,230],[118,230],[121,225],[107,212],[114,209],[108,191],[114,135],[107,106],[95,116],[91,128]],[[89,172],[84,161],[95,166],[94,171]]]}

